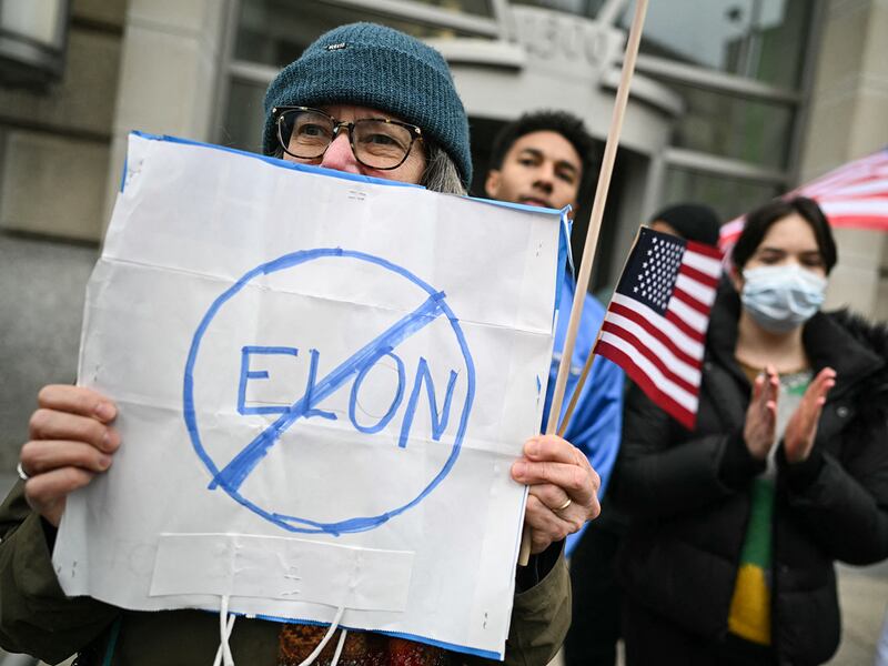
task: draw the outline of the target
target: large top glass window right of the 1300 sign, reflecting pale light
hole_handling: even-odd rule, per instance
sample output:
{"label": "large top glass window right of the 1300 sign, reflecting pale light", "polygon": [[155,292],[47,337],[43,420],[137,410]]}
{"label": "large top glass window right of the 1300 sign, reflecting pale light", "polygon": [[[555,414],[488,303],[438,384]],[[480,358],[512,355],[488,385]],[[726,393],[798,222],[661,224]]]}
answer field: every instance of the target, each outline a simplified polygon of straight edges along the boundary
{"label": "large top glass window right of the 1300 sign, reflecting pale light", "polygon": [[[813,6],[809,0],[652,2],[642,52],[796,89]],[[624,11],[624,28],[632,16]]]}

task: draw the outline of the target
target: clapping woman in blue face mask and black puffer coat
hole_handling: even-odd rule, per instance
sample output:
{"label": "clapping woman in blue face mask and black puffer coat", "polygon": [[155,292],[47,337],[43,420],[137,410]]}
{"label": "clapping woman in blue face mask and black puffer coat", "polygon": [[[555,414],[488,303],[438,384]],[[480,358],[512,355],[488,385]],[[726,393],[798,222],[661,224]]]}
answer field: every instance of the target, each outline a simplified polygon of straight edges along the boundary
{"label": "clapping woman in blue face mask and black puffer coat", "polygon": [[627,396],[629,666],[821,664],[834,562],[888,556],[888,332],[819,311],[836,245],[809,199],[750,213],[733,260],[696,428]]}

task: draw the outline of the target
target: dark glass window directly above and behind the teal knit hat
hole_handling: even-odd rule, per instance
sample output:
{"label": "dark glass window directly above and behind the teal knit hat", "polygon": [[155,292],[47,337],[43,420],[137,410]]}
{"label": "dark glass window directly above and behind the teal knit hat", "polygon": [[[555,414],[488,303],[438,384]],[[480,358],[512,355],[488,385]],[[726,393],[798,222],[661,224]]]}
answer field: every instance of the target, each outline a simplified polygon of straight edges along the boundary
{"label": "dark glass window directly above and behind the teal knit hat", "polygon": [[[482,6],[486,6],[487,0],[460,0],[456,2],[427,0],[425,4],[445,7],[454,9],[454,11],[460,9],[468,11],[470,7],[477,10],[483,9]],[[385,23],[420,39],[464,37],[460,31],[448,28],[435,28],[406,19],[396,20],[370,10],[343,9],[325,2],[242,0],[240,6],[241,12],[238,19],[238,37],[234,47],[235,60],[261,62],[273,67],[284,67],[293,62],[305,47],[320,34],[354,21]]]}

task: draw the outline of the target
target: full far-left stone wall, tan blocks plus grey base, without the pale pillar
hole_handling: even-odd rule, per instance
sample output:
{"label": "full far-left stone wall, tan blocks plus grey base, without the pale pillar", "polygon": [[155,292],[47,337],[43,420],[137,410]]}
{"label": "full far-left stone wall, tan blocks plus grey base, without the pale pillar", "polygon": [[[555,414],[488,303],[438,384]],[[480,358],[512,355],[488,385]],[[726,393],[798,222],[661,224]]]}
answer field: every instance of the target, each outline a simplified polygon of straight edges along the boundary
{"label": "full far-left stone wall, tan blocks plus grey base, without the pale pillar", "polygon": [[61,80],[0,87],[0,473],[16,467],[39,387],[77,376],[125,13],[125,0],[74,0]]}

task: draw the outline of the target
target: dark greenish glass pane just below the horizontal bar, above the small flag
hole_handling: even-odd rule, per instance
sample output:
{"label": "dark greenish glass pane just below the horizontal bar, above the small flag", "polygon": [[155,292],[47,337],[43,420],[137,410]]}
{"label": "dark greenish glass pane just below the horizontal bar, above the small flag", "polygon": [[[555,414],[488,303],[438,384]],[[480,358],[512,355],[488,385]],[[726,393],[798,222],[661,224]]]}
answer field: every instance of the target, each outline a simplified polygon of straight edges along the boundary
{"label": "dark greenish glass pane just below the horizontal bar, above the small flag", "polygon": [[682,95],[672,144],[761,167],[784,169],[793,130],[793,107],[668,85]]}

